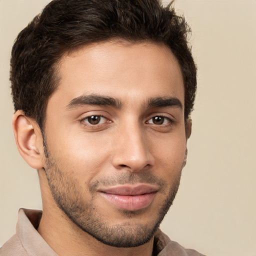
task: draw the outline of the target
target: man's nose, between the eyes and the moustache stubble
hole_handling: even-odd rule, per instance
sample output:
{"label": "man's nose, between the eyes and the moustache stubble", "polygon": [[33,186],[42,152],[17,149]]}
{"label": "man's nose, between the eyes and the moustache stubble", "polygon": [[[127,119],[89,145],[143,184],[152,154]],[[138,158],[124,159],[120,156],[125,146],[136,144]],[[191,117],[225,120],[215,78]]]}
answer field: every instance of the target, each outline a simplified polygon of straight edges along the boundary
{"label": "man's nose, between the eyes and the moustache stubble", "polygon": [[146,132],[136,125],[121,127],[113,142],[112,164],[131,172],[149,169],[154,164]]}

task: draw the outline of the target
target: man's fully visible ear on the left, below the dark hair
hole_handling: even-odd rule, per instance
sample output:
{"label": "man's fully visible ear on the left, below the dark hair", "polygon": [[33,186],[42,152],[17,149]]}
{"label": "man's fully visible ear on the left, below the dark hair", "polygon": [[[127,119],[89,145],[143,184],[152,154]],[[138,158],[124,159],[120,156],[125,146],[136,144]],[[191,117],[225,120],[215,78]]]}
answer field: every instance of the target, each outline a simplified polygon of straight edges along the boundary
{"label": "man's fully visible ear on the left, below the dark hair", "polygon": [[20,155],[34,169],[43,167],[43,143],[36,121],[17,110],[12,118],[12,129]]}

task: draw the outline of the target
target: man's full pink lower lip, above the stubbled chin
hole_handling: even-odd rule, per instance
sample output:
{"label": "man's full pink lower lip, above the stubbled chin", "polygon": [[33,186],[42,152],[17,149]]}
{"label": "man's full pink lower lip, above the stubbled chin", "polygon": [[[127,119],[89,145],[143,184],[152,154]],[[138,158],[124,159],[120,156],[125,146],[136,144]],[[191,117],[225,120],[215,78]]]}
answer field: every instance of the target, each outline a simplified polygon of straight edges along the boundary
{"label": "man's full pink lower lip, above the stubbled chin", "polygon": [[139,210],[145,208],[152,202],[155,192],[139,195],[118,195],[101,192],[101,195],[119,208]]}

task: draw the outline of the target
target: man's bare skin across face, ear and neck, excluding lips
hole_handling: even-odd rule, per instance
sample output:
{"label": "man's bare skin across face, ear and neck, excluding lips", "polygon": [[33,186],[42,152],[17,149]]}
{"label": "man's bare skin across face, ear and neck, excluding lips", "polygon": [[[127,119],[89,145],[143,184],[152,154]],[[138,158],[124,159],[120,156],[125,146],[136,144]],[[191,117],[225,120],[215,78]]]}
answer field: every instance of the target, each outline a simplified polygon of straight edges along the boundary
{"label": "man's bare skin across face, ear and neck, excluding lips", "polygon": [[[22,111],[13,117],[17,147],[38,169],[38,232],[60,256],[151,255],[153,232],[174,199],[191,130],[177,60],[162,44],[107,41],[65,54],[58,72],[44,139]],[[91,95],[97,102],[88,104]],[[90,123],[91,116],[99,123]],[[141,183],[157,187],[141,209],[122,209],[102,196],[105,187]],[[84,231],[88,226],[98,228],[97,234]],[[110,246],[120,236],[118,243],[131,241],[131,247]]]}

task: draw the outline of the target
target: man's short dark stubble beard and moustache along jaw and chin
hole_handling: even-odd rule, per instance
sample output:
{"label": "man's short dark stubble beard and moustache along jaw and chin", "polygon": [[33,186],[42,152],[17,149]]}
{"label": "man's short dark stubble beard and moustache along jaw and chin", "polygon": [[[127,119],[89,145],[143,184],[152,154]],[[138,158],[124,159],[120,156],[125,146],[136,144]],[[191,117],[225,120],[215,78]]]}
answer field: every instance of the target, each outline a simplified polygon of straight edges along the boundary
{"label": "man's short dark stubble beard and moustache along jaw and chin", "polygon": [[[82,194],[88,191],[78,186],[78,182],[71,175],[67,175],[56,164],[44,148],[47,155],[45,174],[48,180],[48,185],[51,194],[57,206],[65,213],[65,215],[81,230],[96,238],[98,241],[114,246],[114,247],[136,247],[148,242],[156,232],[162,219],[167,213],[172,201],[175,198],[179,186],[180,174],[173,182],[173,185],[168,188],[166,181],[149,174],[148,171],[122,174],[114,178],[104,178],[89,184],[89,192],[91,198],[89,201],[84,200]],[[181,170],[180,172],[181,173]],[[108,223],[107,220],[98,211],[98,205],[95,205],[93,193],[98,184],[111,185],[111,184],[124,184],[145,182],[157,184],[161,187],[160,191],[165,195],[165,199],[158,207],[154,219],[150,219],[147,224],[133,225],[132,217],[141,214],[141,210],[128,211],[121,210],[124,218],[128,220],[121,224]],[[84,191],[83,191],[84,189]]]}

